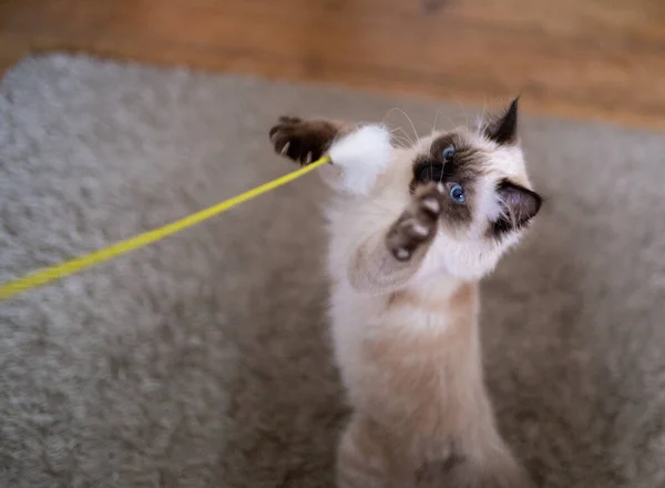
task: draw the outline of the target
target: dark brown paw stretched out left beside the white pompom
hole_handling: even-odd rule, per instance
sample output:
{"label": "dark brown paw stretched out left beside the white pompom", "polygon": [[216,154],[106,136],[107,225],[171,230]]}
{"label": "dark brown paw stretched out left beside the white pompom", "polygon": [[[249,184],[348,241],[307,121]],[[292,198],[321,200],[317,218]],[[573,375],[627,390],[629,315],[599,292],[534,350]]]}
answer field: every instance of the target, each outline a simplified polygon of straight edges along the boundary
{"label": "dark brown paw stretched out left beside the white pompom", "polygon": [[337,125],[325,120],[280,116],[270,129],[270,141],[275,152],[306,165],[324,155],[337,132]]}

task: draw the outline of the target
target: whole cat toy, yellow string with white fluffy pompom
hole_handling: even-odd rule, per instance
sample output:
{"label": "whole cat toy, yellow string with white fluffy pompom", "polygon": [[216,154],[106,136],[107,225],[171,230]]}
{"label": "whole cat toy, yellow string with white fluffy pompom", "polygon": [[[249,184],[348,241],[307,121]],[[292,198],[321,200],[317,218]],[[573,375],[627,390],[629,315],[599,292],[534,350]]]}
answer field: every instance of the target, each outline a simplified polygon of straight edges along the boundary
{"label": "whole cat toy, yellow string with white fluffy pompom", "polygon": [[334,142],[328,151],[328,155],[297,171],[187,215],[171,224],[120,241],[109,247],[84,256],[75,257],[55,266],[45,267],[23,277],[2,283],[0,284],[0,301],[47,285],[55,279],[64,278],[113,257],[161,241],[176,232],[184,231],[187,227],[233,209],[241,203],[283,186],[324,164],[331,163],[341,169],[342,185],[349,193],[357,195],[366,194],[374,185],[377,175],[387,166],[390,159],[390,132],[385,126],[361,126]]}

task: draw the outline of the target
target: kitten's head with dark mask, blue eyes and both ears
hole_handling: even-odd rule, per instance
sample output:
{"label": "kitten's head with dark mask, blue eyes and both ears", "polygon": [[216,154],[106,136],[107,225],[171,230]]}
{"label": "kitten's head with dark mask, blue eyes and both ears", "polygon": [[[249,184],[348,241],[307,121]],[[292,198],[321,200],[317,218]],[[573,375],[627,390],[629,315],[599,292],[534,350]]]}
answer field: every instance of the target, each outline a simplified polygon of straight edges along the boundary
{"label": "kitten's head with dark mask, blue eyes and both ears", "polygon": [[436,133],[396,155],[376,193],[410,195],[440,182],[444,199],[439,230],[421,274],[479,278],[516,244],[539,212],[541,196],[526,175],[518,138],[518,100],[475,129]]}

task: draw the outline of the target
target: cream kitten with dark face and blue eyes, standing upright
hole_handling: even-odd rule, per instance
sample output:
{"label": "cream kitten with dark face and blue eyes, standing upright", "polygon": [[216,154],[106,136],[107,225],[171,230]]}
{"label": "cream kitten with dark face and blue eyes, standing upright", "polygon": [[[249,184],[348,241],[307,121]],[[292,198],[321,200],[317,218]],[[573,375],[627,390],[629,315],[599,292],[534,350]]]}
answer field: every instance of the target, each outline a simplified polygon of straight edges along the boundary
{"label": "cream kitten with dark face and blue eyes, standing upright", "polygon": [[[354,124],[284,116],[277,153],[301,164]],[[474,129],[395,146],[368,195],[326,205],[331,336],[352,408],[339,488],[525,488],[483,380],[479,281],[539,213],[518,136],[518,99]]]}

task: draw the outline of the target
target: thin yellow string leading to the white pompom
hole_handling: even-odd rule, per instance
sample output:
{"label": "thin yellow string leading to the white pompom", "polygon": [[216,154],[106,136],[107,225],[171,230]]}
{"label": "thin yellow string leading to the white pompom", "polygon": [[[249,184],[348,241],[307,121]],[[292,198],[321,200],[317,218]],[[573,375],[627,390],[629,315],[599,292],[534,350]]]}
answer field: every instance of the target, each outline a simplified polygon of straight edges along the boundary
{"label": "thin yellow string leading to the white pompom", "polygon": [[300,167],[299,170],[294,171],[293,173],[285,174],[284,176],[280,176],[268,183],[264,183],[263,185],[249,190],[241,195],[217,203],[216,205],[204,209],[200,212],[196,212],[195,214],[188,215],[171,224],[164,225],[163,227],[155,228],[143,234],[139,234],[134,237],[112,244],[109,247],[95,251],[85,256],[75,257],[71,261],[65,261],[62,264],[45,267],[27,276],[3,283],[0,285],[0,301],[7,299],[13,295],[18,295],[19,293],[28,292],[29,289],[33,289],[39,286],[45,285],[47,283],[50,283],[54,279],[63,278],[85,268],[95,266],[100,263],[103,263],[104,261],[109,261],[113,257],[129,253],[130,251],[143,247],[155,241],[160,241],[171,234],[175,234],[176,232],[191,227],[192,225],[195,225],[217,214],[221,214],[222,212],[233,209],[234,206],[239,205],[243,202],[252,200],[258,195],[262,195],[263,193],[269,192],[270,190],[274,190],[290,181],[294,181],[303,176],[304,174],[309,173],[310,171],[329,162],[330,159],[328,156],[321,157],[320,160],[315,161],[314,163],[308,164],[307,166]]}

